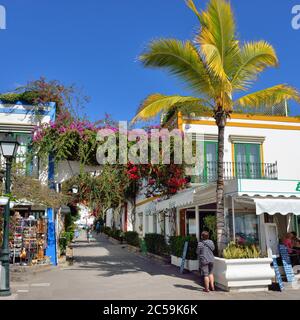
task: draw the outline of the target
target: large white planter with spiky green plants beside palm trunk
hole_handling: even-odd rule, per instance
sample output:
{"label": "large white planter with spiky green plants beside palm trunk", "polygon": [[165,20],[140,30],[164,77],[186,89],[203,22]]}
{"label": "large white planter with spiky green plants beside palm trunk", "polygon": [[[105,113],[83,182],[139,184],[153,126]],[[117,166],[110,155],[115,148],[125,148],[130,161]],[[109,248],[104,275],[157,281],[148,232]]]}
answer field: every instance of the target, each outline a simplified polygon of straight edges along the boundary
{"label": "large white planter with spiky green plants beside palm trunk", "polygon": [[226,291],[268,291],[275,277],[271,263],[255,245],[231,242],[223,258],[215,258],[216,286]]}

